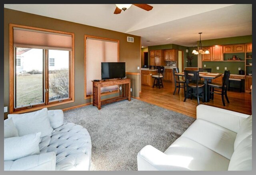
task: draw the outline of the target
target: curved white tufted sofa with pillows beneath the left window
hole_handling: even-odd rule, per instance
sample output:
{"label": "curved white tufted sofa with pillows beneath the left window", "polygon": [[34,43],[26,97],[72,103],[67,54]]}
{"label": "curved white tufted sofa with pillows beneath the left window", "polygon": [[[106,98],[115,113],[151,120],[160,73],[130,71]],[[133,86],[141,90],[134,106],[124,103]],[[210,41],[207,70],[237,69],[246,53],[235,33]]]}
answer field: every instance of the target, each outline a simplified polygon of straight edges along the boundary
{"label": "curved white tufted sofa with pillows beneath the left window", "polygon": [[[4,170],[90,170],[92,144],[88,131],[81,125],[64,123],[63,118],[62,110],[47,108],[27,115],[9,114],[4,121]],[[26,143],[22,143],[24,139]],[[29,139],[34,140],[30,143]]]}

